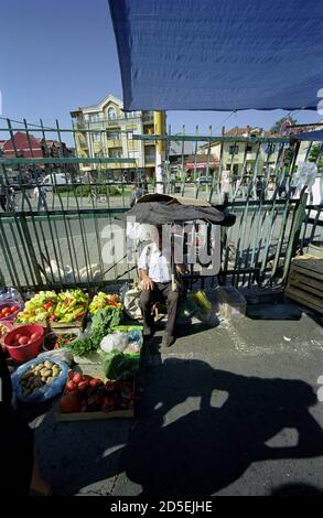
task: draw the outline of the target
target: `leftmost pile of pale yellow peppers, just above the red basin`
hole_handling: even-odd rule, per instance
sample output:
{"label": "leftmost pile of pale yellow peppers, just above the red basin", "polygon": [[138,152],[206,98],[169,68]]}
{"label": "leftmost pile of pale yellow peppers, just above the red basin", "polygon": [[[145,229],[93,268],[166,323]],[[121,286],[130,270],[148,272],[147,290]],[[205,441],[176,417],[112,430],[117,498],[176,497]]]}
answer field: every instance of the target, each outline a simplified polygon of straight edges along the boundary
{"label": "leftmost pile of pale yellow peppers, just above the red basin", "polygon": [[24,324],[35,324],[46,321],[53,313],[57,302],[54,291],[40,291],[25,303],[24,311],[18,314],[17,322]]}

